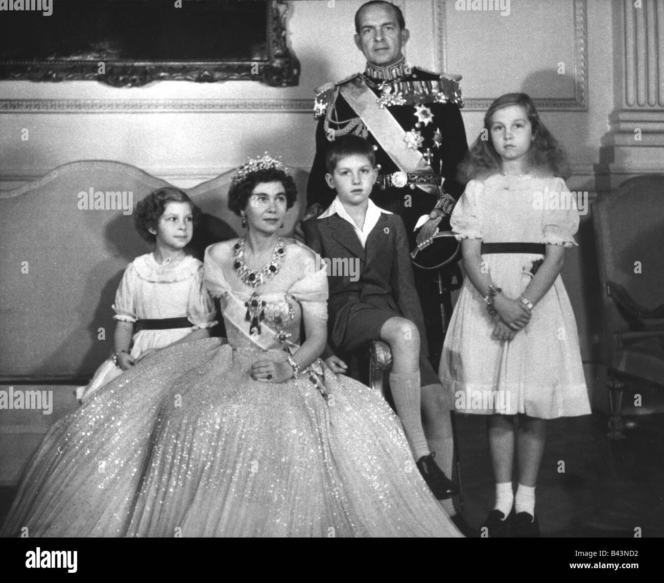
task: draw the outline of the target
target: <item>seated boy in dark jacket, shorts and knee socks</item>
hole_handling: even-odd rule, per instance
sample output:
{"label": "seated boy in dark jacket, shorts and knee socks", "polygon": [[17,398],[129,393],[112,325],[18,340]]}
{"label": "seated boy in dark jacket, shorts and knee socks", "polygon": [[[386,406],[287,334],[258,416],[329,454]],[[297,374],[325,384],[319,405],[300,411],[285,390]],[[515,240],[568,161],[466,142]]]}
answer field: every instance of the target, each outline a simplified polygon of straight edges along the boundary
{"label": "seated boy in dark jacket, shorts and knee socks", "polygon": [[[326,165],[325,179],[337,196],[325,212],[303,222],[305,240],[333,266],[359,265],[357,271],[329,274],[329,347],[348,353],[372,340],[390,346],[392,397],[416,465],[454,515],[450,498],[457,490],[445,475],[452,472],[452,395],[426,358],[406,228],[398,215],[369,200],[378,174],[369,142],[357,135],[338,137],[327,151]],[[332,363],[334,372],[345,372],[343,361]]]}

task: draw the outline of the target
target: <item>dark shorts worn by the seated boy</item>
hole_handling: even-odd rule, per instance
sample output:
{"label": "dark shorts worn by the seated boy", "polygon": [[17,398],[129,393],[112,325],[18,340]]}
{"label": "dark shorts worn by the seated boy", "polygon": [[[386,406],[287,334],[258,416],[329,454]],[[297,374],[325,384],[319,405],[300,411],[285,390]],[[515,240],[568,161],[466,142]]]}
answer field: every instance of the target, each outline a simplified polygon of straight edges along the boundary
{"label": "dark shorts worn by the seated boy", "polygon": [[[354,303],[349,313],[343,339],[337,347],[342,353],[355,352],[372,340],[380,340],[380,329],[390,318],[403,317],[397,312],[374,307],[368,303]],[[438,384],[440,378],[434,372],[429,359],[420,351],[420,385]]]}

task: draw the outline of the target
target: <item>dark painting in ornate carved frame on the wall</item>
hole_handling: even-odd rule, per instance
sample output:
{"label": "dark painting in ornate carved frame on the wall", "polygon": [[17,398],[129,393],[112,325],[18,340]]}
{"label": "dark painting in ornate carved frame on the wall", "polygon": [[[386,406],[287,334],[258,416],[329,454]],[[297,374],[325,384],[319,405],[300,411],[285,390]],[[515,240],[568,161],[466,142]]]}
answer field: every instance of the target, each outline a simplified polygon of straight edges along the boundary
{"label": "dark painting in ornate carved frame on the wall", "polygon": [[287,12],[288,0],[52,0],[50,15],[3,13],[0,80],[294,86]]}

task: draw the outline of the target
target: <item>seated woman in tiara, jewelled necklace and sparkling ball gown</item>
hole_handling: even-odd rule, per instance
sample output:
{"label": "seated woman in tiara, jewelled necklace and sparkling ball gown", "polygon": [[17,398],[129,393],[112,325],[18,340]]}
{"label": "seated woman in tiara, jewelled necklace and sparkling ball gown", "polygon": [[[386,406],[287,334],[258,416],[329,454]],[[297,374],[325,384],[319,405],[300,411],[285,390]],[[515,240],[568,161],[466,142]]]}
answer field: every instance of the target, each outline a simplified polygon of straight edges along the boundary
{"label": "seated woman in tiara, jewelled necklace and sparkling ball gown", "polygon": [[278,161],[240,168],[248,232],[204,264],[228,344],[161,349],[56,423],[3,535],[461,537],[382,396],[319,359],[324,264],[280,237],[295,197]]}

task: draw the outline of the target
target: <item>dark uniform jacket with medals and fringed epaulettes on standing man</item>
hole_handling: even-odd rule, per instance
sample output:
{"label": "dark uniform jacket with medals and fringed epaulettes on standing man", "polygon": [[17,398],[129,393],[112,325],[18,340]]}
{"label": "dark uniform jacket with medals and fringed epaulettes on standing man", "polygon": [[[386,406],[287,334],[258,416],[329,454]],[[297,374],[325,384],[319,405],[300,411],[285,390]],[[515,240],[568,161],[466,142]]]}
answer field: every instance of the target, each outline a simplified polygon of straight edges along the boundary
{"label": "dark uniform jacket with medals and fringed epaulettes on standing man", "polygon": [[[321,209],[329,207],[335,193],[325,182],[325,151],[329,139],[345,133],[364,135],[377,147],[376,163],[380,173],[394,173],[400,169],[382,150],[371,133],[345,98],[339,93],[343,84],[350,83],[358,75],[363,76],[369,88],[396,121],[406,131],[412,131],[418,149],[428,155],[434,173],[445,177],[444,191],[458,200],[463,193],[463,185],[457,181],[457,165],[465,155],[468,145],[459,108],[463,106],[459,76],[440,75],[422,68],[404,68],[404,63],[394,66],[388,72],[393,79],[384,82],[379,69],[367,66],[364,74],[355,74],[339,83],[327,84],[317,90],[315,115],[318,118],[316,129],[316,153],[307,184],[307,208],[318,204]],[[408,72],[408,74],[406,74]],[[419,116],[418,116],[419,111]],[[420,121],[421,120],[421,121]],[[419,127],[416,127],[419,124]],[[406,197],[410,195],[410,197]],[[396,212],[406,225],[409,238],[416,221],[423,214],[431,212],[437,197],[410,185],[394,186],[382,190],[374,185],[371,200],[378,207]]]}

